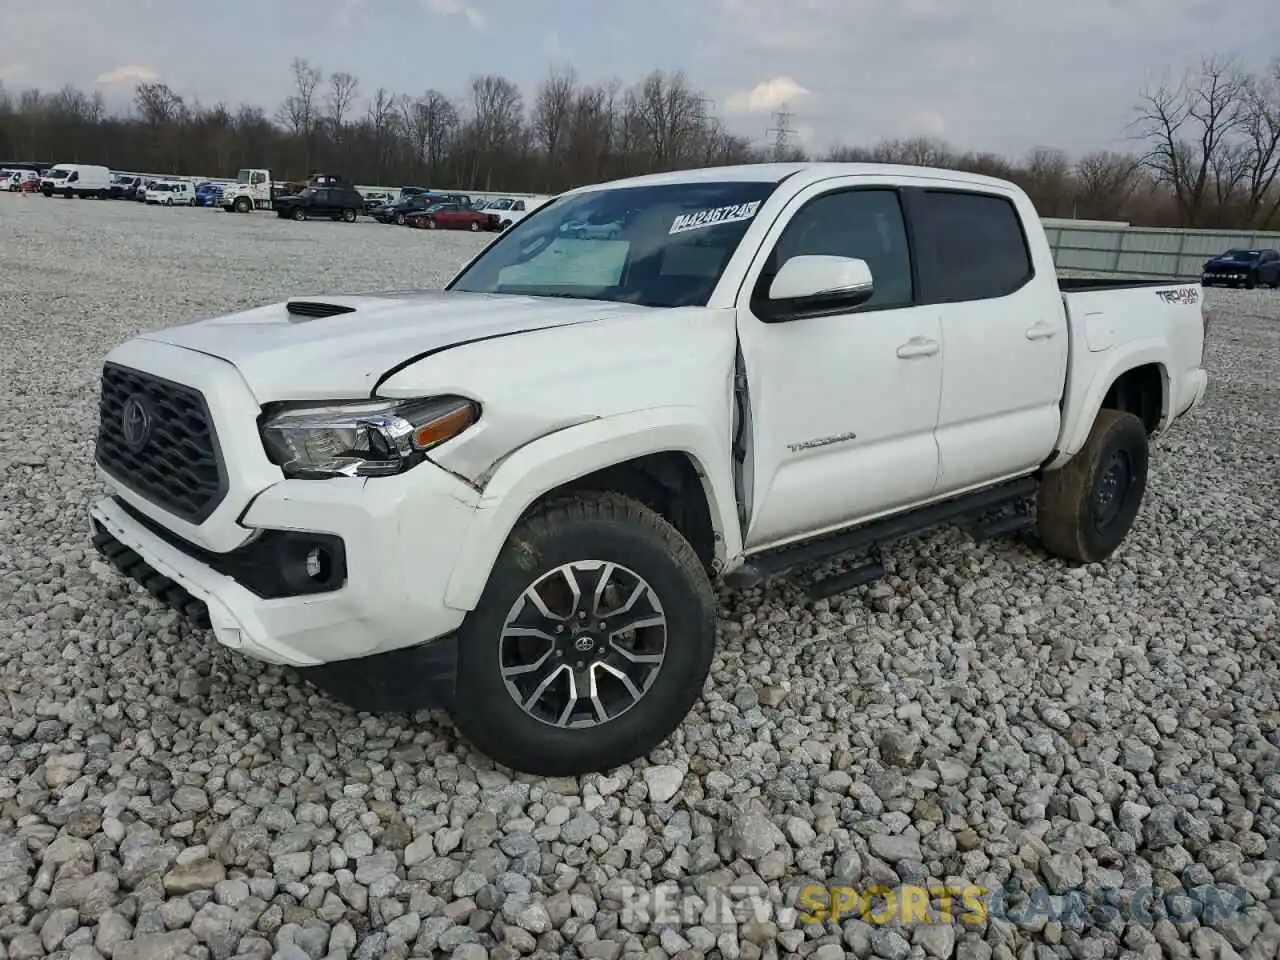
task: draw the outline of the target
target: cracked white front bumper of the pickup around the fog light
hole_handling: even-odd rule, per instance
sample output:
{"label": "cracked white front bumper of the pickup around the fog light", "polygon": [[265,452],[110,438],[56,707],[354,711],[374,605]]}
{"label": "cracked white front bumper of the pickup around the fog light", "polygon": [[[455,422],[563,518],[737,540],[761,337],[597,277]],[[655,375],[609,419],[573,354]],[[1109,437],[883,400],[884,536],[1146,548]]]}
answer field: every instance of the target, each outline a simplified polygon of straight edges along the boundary
{"label": "cracked white front bumper of the pickup around the fog light", "polygon": [[154,525],[169,526],[155,508],[143,522],[136,500],[127,508],[108,497],[92,504],[90,516],[104,556],[155,595],[207,620],[218,643],[270,663],[319,667],[415,648],[462,623],[466,611],[448,607],[444,596],[458,544],[476,522],[476,498],[431,463],[376,481],[276,483],[252,500],[241,525],[259,534],[339,538],[346,580],[325,593],[274,598],[216,570],[201,548],[172,532],[161,536]]}

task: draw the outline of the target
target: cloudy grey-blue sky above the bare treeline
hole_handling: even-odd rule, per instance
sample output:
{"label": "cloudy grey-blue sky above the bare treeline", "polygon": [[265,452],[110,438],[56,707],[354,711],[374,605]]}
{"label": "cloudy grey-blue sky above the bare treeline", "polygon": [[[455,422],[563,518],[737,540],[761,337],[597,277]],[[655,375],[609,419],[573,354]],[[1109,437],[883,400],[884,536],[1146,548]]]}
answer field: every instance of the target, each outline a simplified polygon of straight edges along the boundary
{"label": "cloudy grey-blue sky above the bare treeline", "polygon": [[159,79],[273,114],[289,61],[378,87],[461,96],[502,73],[631,83],[684,70],[735,133],[773,111],[813,150],[940,137],[1020,156],[1133,148],[1146,84],[1207,55],[1280,54],[1277,0],[4,0],[0,83],[97,88],[125,106]]}

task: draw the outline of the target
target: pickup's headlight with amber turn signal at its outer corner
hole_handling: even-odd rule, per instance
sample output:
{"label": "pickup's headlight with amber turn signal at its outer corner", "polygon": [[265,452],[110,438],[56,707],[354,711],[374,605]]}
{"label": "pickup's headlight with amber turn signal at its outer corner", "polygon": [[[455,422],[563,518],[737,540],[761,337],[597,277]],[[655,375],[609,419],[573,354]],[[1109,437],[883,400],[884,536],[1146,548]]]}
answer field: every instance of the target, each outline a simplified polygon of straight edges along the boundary
{"label": "pickup's headlight with amber turn signal at its outer corner", "polygon": [[270,413],[262,444],[285,476],[392,476],[480,417],[463,397],[364,401]]}

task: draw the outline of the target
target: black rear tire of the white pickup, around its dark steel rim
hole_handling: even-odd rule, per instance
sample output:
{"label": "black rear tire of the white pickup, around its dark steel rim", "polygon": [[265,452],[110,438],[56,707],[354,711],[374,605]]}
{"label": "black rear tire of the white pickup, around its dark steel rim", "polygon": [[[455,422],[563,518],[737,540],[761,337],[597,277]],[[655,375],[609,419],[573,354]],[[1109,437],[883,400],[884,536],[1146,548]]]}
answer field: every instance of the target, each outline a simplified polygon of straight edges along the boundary
{"label": "black rear tire of the white pickup, around its dark steel rim", "polygon": [[[1112,456],[1124,457],[1129,483],[1119,509],[1101,529],[1097,495]],[[1147,428],[1133,413],[1101,410],[1089,439],[1066,466],[1050,471],[1037,497],[1041,544],[1050,553],[1078,563],[1100,563],[1124,541],[1147,489]]]}

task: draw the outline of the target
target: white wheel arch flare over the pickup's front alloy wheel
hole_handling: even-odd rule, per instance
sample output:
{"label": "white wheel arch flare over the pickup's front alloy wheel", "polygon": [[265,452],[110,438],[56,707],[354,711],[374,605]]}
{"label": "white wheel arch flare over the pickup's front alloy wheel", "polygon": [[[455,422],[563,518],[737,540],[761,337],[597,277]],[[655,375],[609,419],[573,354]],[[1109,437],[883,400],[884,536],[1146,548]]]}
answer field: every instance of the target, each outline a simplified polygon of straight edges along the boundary
{"label": "white wheel arch flare over the pickup's front alloy wheel", "polygon": [[472,609],[530,508],[584,489],[613,490],[653,507],[709,571],[721,568],[741,553],[727,458],[716,433],[677,407],[602,417],[525,444],[485,483],[480,522],[462,544],[445,603]]}

